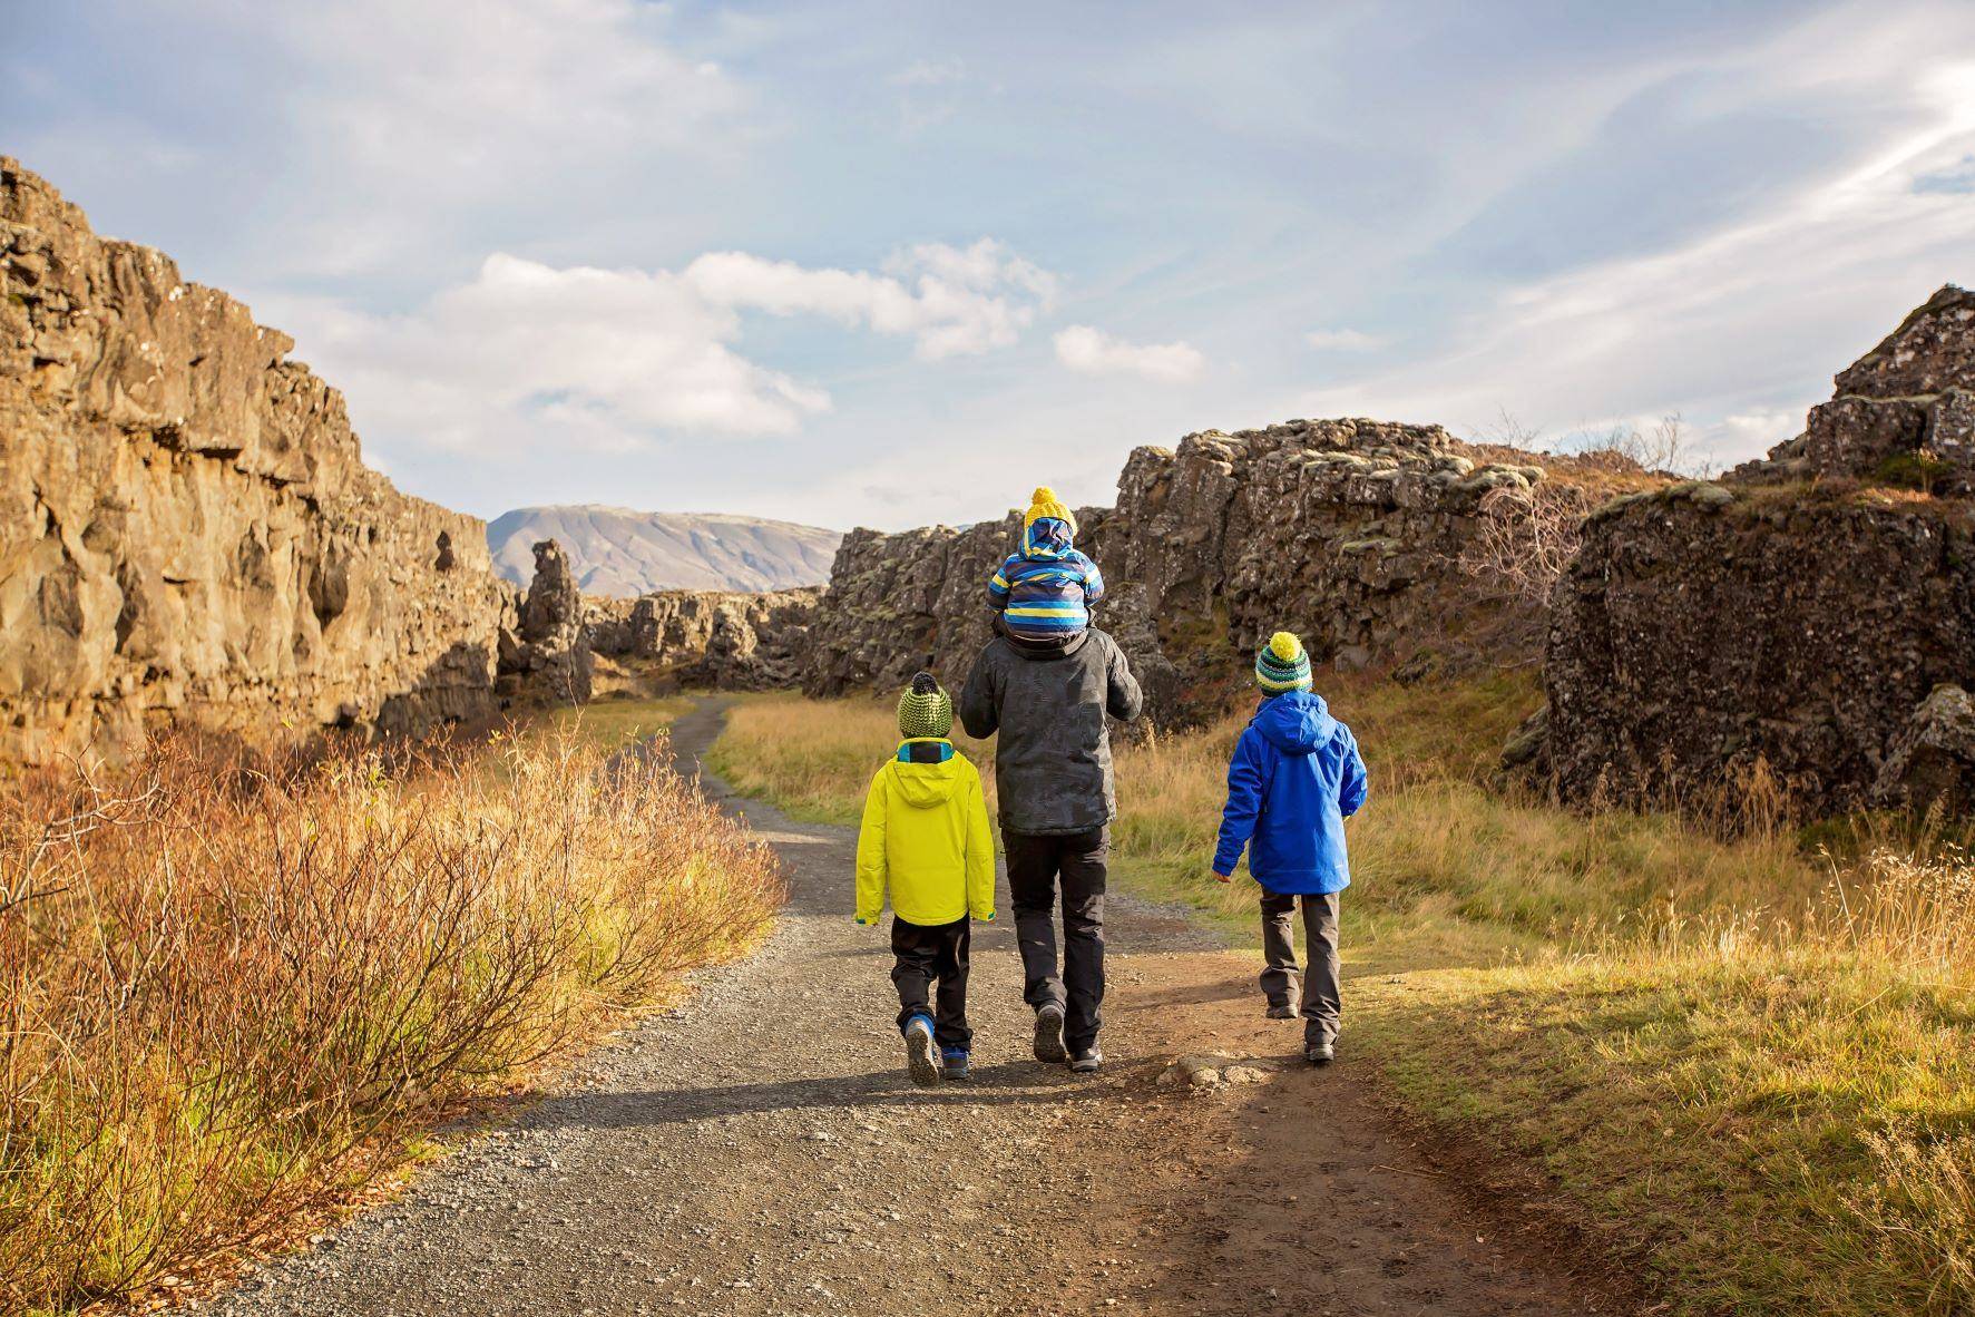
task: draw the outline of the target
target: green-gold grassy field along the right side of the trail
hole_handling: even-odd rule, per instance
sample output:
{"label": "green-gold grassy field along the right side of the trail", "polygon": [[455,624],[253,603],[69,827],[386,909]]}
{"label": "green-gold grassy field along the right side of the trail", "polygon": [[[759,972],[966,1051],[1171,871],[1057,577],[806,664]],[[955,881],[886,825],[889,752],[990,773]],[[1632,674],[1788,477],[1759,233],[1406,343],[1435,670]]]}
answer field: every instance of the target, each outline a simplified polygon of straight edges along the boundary
{"label": "green-gold grassy field along the right side of the trail", "polygon": [[[1529,673],[1329,677],[1365,746],[1345,1054],[1540,1169],[1679,1313],[1975,1311],[1975,867],[1884,819],[1724,829],[1491,790]],[[1209,857],[1244,713],[1118,750],[1120,883],[1256,940]],[[853,821],[889,701],[743,703],[747,792]],[[962,742],[986,764],[991,746]]]}

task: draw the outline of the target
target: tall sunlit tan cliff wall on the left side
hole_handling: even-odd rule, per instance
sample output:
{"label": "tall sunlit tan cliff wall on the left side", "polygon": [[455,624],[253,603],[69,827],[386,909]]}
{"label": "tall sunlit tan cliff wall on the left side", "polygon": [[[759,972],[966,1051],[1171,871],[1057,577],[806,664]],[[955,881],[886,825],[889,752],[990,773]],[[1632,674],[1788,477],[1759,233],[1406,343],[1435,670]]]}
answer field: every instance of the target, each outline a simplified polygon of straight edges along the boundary
{"label": "tall sunlit tan cliff wall on the left side", "polygon": [[0,758],[492,711],[484,525],[365,468],[290,348],[0,160]]}

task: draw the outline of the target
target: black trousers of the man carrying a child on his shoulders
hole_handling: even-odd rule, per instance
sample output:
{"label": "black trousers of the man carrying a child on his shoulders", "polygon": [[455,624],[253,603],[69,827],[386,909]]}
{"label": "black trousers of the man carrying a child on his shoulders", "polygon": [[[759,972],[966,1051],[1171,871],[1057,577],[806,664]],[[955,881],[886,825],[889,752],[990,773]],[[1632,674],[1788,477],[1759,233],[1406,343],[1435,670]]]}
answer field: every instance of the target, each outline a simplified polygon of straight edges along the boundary
{"label": "black trousers of the man carrying a child on his shoulders", "polygon": [[[1110,827],[1082,833],[1001,831],[1007,891],[1021,944],[1023,999],[1063,1007],[1063,1045],[1074,1056],[1104,1023],[1104,877]],[[1057,879],[1063,879],[1063,969],[1057,969]]]}

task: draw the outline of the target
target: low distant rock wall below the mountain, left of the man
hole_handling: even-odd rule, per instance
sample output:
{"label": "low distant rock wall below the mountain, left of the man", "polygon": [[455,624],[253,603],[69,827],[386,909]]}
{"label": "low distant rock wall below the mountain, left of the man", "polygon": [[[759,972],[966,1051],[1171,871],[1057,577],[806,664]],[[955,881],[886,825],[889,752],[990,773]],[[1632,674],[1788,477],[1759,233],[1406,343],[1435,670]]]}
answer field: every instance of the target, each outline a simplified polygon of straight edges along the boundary
{"label": "low distant rock wall below the mountain, left of the man", "polygon": [[658,590],[640,598],[587,598],[589,646],[634,659],[677,687],[766,691],[796,687],[824,588],[766,594]]}

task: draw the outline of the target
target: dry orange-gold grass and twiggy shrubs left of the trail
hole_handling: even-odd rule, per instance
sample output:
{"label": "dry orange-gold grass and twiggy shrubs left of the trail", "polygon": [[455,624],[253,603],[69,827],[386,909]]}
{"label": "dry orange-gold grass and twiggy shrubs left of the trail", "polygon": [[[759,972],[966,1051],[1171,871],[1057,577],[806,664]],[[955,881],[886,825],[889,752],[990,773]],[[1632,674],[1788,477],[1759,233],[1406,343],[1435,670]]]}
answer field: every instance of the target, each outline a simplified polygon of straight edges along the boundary
{"label": "dry orange-gold grass and twiggy shrubs left of the trail", "polygon": [[[500,772],[488,770],[498,756]],[[67,1311],[348,1193],[754,938],[780,887],[650,758],[192,742],[0,798],[0,1311]]]}

